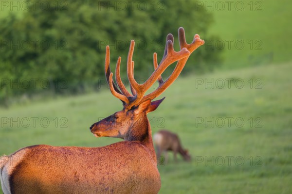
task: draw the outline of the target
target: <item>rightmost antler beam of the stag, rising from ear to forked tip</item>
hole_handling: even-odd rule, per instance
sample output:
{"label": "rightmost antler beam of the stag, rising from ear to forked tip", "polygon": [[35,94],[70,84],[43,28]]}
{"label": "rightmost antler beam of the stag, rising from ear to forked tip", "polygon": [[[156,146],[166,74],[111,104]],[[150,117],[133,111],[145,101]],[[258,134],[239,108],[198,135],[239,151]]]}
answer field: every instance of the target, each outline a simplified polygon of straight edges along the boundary
{"label": "rightmost antler beam of the stag, rising from ear to forked tip", "polygon": [[[194,40],[191,44],[187,44],[185,41],[184,30],[182,27],[179,28],[179,42],[180,42],[180,48],[181,49],[186,48],[190,52],[190,54],[195,49],[197,49],[198,47],[204,44],[204,41],[200,39],[200,36],[198,34],[195,35]],[[141,101],[144,101],[148,98],[154,99],[155,97],[158,97],[159,95],[161,95],[164,92],[164,90],[178,78],[190,54],[182,58],[181,60],[179,60],[172,74],[167,78],[167,80],[164,81],[162,84],[159,84],[159,87],[154,92],[143,97]]]}

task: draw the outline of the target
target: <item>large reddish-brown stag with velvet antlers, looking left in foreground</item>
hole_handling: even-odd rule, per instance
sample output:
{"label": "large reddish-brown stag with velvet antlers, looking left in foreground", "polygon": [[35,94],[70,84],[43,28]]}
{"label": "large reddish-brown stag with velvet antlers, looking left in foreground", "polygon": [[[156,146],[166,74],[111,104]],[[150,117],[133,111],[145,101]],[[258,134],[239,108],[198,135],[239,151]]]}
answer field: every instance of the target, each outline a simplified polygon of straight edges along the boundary
{"label": "large reddish-brown stag with velvet antlers, looking left in foreground", "polygon": [[[123,109],[91,125],[96,137],[117,137],[125,141],[103,147],[36,145],[1,157],[0,179],[4,194],[157,194],[161,187],[156,154],[147,113],[154,111],[164,98],[151,101],[177,79],[190,54],[204,41],[195,35],[187,44],[179,29],[180,51],[173,49],[173,35],[166,37],[164,56],[158,65],[153,54],[154,72],[143,83],[134,79],[134,40],[130,43],[127,75],[131,93],[120,77],[121,57],[110,71],[110,47],[106,47],[105,74],[110,92],[123,103]],[[161,74],[172,63],[177,65],[163,80]],[[156,90],[146,91],[159,82]]]}

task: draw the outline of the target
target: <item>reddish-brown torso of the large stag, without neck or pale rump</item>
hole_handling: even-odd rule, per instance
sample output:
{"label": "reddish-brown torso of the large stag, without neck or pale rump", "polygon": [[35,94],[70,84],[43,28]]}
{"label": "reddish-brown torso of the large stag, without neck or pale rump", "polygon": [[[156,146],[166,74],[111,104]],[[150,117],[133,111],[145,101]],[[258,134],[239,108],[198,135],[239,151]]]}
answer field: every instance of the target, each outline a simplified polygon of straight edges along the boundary
{"label": "reddish-brown torso of the large stag, without neck or pale rump", "polygon": [[160,189],[154,159],[138,142],[98,148],[39,145],[24,150],[10,175],[12,194],[154,194]]}

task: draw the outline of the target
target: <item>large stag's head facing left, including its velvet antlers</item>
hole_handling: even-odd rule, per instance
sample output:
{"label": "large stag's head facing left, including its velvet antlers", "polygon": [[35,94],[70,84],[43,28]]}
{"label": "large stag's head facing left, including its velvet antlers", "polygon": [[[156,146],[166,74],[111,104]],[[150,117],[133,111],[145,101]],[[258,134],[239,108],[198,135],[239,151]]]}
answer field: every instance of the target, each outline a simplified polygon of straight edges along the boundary
{"label": "large stag's head facing left, including its velvet antlers", "polygon": [[[106,48],[105,73],[110,92],[113,96],[119,98],[123,102],[123,110],[110,115],[103,120],[94,123],[90,129],[96,137],[118,137],[128,141],[141,141],[147,138],[146,129],[148,127],[148,119],[146,114],[154,111],[159,104],[164,100],[152,101],[154,98],[161,95],[164,90],[177,79],[190,54],[204,44],[198,34],[195,35],[193,42],[187,44],[183,28],[179,28],[179,43],[180,51],[176,52],[173,49],[173,35],[168,34],[166,37],[166,46],[164,56],[158,65],[157,54],[153,54],[154,72],[143,83],[139,84],[134,79],[134,61],[132,61],[134,51],[134,40],[131,41],[128,60],[127,60],[127,75],[130,83],[131,93],[128,92],[120,77],[121,57],[118,58],[115,70],[115,81],[113,82],[113,73],[110,71],[110,47]],[[161,74],[164,70],[177,61],[177,65],[172,74],[164,81]],[[150,94],[145,95],[146,91],[155,83],[159,82],[158,88]],[[151,136],[151,135],[150,135]]]}

